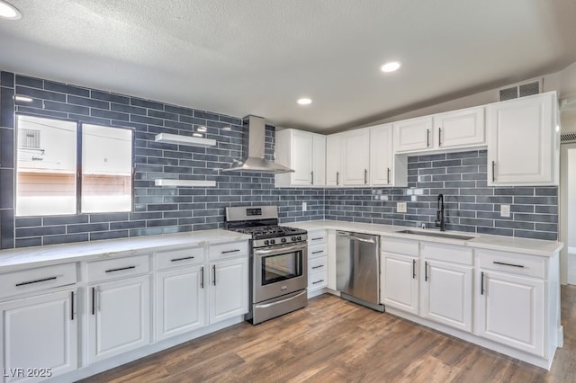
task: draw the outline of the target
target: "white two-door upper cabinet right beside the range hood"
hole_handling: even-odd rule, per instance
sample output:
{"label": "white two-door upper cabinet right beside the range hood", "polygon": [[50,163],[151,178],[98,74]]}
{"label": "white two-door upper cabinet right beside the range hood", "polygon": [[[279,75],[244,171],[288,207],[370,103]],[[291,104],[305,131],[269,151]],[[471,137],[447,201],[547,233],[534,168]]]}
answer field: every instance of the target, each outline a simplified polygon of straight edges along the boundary
{"label": "white two-door upper cabinet right beside the range hood", "polygon": [[276,186],[326,185],[326,136],[296,129],[276,131],[275,161],[294,170],[275,174]]}

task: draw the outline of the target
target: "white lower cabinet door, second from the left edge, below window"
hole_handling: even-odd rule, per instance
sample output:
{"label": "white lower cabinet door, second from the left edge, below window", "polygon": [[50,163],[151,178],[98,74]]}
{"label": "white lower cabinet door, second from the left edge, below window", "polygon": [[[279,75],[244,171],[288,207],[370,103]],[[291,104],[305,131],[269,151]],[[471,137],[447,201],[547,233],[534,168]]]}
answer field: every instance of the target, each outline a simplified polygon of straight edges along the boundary
{"label": "white lower cabinet door, second from the left edge, below window", "polygon": [[88,363],[149,343],[148,275],[89,286]]}

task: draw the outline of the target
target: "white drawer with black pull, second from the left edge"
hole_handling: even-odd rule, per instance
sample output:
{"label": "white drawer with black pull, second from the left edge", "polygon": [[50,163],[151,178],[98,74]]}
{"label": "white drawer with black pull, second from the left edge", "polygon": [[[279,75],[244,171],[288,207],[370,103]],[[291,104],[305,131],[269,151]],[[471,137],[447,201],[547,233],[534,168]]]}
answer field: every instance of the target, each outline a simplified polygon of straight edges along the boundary
{"label": "white drawer with black pull, second from the left edge", "polygon": [[109,281],[150,271],[149,256],[136,255],[86,263],[86,281]]}

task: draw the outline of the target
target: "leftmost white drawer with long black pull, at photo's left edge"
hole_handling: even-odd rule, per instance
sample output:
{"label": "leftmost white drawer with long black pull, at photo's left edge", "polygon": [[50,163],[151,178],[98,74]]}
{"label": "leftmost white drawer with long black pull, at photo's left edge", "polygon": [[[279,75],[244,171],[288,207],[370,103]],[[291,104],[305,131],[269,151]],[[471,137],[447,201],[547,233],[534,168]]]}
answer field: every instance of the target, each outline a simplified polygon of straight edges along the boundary
{"label": "leftmost white drawer with long black pull, at photo's left edge", "polygon": [[74,284],[76,263],[55,264],[0,275],[0,297]]}

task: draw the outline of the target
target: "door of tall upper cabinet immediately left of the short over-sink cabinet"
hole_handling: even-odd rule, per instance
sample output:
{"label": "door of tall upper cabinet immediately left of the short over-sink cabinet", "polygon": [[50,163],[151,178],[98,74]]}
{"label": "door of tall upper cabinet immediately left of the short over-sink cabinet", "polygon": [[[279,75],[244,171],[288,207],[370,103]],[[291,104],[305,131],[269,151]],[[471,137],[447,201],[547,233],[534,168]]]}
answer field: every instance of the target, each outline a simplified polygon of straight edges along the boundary
{"label": "door of tall upper cabinet immediately left of the short over-sink cabinet", "polygon": [[370,183],[392,186],[393,168],[392,124],[370,129]]}

